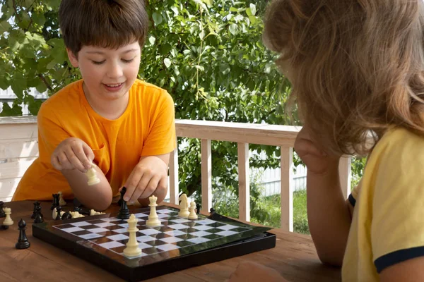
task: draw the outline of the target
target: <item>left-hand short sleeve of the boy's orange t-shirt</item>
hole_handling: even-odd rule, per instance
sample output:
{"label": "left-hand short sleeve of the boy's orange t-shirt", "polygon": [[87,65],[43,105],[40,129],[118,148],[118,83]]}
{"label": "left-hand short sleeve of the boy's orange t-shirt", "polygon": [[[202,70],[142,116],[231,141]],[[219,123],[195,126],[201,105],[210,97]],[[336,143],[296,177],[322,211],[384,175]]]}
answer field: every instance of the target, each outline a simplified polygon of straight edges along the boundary
{"label": "left-hand short sleeve of the boy's orange t-shirt", "polygon": [[50,157],[59,145],[66,138],[71,137],[62,128],[59,118],[51,109],[43,104],[37,115],[37,127],[39,135],[40,160],[50,162]]}

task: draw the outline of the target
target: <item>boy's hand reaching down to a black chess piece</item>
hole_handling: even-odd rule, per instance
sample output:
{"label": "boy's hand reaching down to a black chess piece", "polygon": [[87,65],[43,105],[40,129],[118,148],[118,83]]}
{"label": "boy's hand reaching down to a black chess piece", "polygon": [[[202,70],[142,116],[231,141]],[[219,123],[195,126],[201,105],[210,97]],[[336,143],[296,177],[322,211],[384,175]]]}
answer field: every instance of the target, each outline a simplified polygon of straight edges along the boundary
{"label": "boy's hand reaching down to a black chess piece", "polygon": [[124,185],[124,201],[136,202],[153,193],[162,195],[167,190],[167,164],[159,157],[143,157],[131,172]]}

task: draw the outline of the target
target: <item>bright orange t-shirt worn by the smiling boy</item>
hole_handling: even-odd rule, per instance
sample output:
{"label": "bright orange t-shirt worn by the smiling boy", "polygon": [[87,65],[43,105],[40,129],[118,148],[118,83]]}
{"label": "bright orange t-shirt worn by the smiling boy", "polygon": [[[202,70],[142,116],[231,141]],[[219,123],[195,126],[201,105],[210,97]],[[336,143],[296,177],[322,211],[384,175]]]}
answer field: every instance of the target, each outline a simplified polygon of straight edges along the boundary
{"label": "bright orange t-shirt worn by the smiling boy", "polygon": [[40,156],[23,175],[13,201],[51,200],[61,191],[73,197],[71,187],[50,157],[66,138],[77,137],[90,146],[112,187],[114,196],[142,156],[167,154],[176,147],[175,109],[170,94],[160,87],[136,80],[129,103],[116,120],[103,118],[88,104],[83,80],[67,85],[44,102],[38,112]]}

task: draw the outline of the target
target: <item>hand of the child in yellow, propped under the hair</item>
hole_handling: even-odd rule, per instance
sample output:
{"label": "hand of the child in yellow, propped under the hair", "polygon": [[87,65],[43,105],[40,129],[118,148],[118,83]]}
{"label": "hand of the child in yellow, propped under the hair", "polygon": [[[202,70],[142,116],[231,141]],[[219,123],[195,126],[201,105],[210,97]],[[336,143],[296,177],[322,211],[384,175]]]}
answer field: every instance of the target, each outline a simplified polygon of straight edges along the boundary
{"label": "hand of the child in yellow, propped under the hair", "polygon": [[330,170],[338,168],[338,160],[341,157],[320,148],[312,139],[306,125],[302,127],[296,137],[295,152],[305,163],[307,171],[315,174],[326,174]]}

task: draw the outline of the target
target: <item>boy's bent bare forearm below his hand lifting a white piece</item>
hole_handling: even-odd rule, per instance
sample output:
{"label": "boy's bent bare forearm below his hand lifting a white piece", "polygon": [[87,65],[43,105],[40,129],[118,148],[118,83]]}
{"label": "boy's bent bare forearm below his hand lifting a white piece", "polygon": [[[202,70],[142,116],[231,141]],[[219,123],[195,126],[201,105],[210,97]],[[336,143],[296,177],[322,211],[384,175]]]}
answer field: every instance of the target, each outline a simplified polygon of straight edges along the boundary
{"label": "boy's bent bare forearm below his hand lifting a white piece", "polygon": [[88,185],[86,173],[82,173],[77,169],[63,170],[61,173],[68,180],[73,195],[75,195],[81,204],[88,209],[104,211],[112,203],[112,188],[110,188],[110,184],[100,168],[98,166],[94,166],[94,168],[96,176],[100,180],[100,183],[95,185]]}

